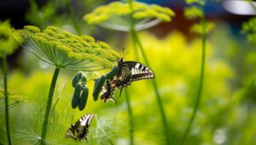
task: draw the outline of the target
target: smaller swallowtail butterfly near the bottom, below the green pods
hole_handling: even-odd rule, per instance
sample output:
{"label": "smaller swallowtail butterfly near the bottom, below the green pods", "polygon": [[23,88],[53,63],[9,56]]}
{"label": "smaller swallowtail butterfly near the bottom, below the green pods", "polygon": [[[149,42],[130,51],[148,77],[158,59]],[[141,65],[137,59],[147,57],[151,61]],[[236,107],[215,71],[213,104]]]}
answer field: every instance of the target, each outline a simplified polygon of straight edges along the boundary
{"label": "smaller swallowtail butterfly near the bottom, below the green pods", "polygon": [[78,141],[85,139],[87,142],[86,137],[88,136],[88,128],[92,119],[93,114],[84,114],[75,124],[71,124],[71,127],[66,132],[66,137],[71,137]]}

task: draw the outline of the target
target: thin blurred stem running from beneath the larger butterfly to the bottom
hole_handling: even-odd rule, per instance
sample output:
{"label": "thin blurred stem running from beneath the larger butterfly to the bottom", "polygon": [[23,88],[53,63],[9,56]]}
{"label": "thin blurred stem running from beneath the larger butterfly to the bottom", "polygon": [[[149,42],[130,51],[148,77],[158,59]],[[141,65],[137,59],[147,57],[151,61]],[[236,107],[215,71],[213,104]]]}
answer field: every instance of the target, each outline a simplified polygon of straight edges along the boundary
{"label": "thin blurred stem running from beneath the larger butterfly to the bottom", "polygon": [[126,98],[127,110],[129,114],[129,120],[130,120],[130,145],[133,145],[134,144],[134,139],[133,139],[134,124],[133,124],[133,115],[131,111],[130,95],[127,90],[125,90],[125,98]]}

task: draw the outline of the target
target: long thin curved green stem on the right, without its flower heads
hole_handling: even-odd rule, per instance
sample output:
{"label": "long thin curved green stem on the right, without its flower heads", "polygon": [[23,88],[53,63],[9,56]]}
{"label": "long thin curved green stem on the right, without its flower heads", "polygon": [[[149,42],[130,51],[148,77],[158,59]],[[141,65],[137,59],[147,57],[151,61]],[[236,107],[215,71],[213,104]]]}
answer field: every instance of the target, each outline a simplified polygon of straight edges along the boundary
{"label": "long thin curved green stem on the right, without its flower heads", "polygon": [[200,75],[200,79],[199,79],[199,86],[198,86],[198,90],[197,90],[197,94],[196,94],[196,98],[195,98],[195,106],[193,109],[193,113],[189,120],[189,124],[183,134],[181,142],[179,142],[179,145],[183,145],[183,143],[186,141],[186,138],[188,137],[191,125],[192,125],[193,121],[195,120],[195,115],[197,113],[197,110],[199,108],[199,103],[201,100],[201,92],[202,92],[203,80],[204,80],[204,74],[205,74],[205,59],[206,59],[206,20],[205,20],[205,16],[202,17],[201,22],[202,22],[201,26],[202,26],[202,31],[203,31],[202,36],[201,36],[201,40],[202,40],[201,75]]}

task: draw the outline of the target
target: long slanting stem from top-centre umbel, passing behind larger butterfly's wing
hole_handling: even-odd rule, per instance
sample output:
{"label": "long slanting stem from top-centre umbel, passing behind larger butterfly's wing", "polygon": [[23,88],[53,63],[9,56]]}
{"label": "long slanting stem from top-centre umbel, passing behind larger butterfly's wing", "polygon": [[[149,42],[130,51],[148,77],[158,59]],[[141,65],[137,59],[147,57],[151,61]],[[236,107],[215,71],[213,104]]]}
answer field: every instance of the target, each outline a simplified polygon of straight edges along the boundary
{"label": "long slanting stem from top-centre umbel, passing behind larger butterfly's wing", "polygon": [[[130,5],[131,10],[133,10],[132,0],[129,0],[128,3]],[[144,52],[143,44],[140,41],[139,37],[137,36],[137,31],[135,29],[134,20],[132,19],[132,17],[131,17],[131,23],[130,23],[130,32],[131,32],[132,41],[135,44],[137,44],[140,52],[142,53],[143,60],[145,61],[145,64],[147,64],[149,66],[148,58],[146,56],[146,53]],[[135,51],[135,53],[137,54],[136,51]],[[166,114],[165,114],[164,106],[163,106],[163,103],[162,103],[161,98],[160,98],[160,92],[159,92],[156,81],[152,80],[151,82],[152,82],[152,85],[154,87],[155,97],[156,97],[156,100],[157,100],[158,107],[160,109],[162,124],[163,124],[164,130],[165,130],[165,135],[166,135],[166,144],[170,145],[171,140],[170,140],[170,137],[169,137],[169,128],[168,128],[168,124],[167,124],[167,120],[166,120]]]}

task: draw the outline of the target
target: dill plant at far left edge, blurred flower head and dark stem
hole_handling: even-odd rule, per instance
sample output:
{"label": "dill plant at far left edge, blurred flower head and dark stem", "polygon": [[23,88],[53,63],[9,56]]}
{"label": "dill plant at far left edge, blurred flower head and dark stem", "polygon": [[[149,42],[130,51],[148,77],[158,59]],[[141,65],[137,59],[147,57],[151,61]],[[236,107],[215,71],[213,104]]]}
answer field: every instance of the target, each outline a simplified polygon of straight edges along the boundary
{"label": "dill plant at far left edge, blurred flower head and dark stem", "polygon": [[[12,28],[9,24],[9,20],[0,21],[0,58],[2,59],[3,67],[3,96],[5,102],[5,123],[6,123],[6,134],[8,143],[12,144],[10,131],[9,131],[9,90],[8,90],[8,62],[7,55],[14,53],[18,47],[17,43],[12,38]],[[11,104],[12,105],[12,104]]]}

